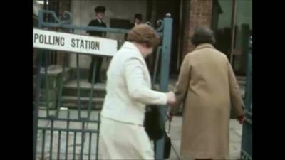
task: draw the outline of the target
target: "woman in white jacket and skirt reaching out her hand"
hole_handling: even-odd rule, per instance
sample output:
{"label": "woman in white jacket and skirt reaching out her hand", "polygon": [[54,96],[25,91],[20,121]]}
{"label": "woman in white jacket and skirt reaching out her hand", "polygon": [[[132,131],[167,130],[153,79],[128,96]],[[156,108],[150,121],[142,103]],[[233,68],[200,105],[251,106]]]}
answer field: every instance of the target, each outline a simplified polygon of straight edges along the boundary
{"label": "woman in white jacket and skirt reaching out her hand", "polygon": [[101,112],[100,159],[154,159],[143,127],[145,105],[173,105],[173,92],[151,90],[147,55],[160,42],[154,29],[135,26],[107,72],[107,95]]}

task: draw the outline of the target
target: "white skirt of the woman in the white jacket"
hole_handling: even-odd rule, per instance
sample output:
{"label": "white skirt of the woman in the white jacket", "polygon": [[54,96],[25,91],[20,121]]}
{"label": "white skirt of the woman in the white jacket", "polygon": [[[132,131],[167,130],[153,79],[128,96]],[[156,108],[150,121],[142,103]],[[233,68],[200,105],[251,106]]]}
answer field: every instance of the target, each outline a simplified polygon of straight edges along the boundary
{"label": "white skirt of the woman in the white jacket", "polygon": [[144,127],[101,117],[100,159],[155,159]]}

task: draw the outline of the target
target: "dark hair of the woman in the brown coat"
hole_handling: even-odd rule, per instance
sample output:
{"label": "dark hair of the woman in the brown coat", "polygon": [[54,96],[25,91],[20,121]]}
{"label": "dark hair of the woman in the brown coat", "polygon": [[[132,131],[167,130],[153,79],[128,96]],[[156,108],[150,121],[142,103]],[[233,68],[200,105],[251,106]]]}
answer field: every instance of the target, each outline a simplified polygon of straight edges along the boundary
{"label": "dark hair of the woman in the brown coat", "polygon": [[195,46],[202,43],[214,44],[215,41],[214,32],[205,26],[198,26],[195,28],[195,32],[191,38],[191,43]]}

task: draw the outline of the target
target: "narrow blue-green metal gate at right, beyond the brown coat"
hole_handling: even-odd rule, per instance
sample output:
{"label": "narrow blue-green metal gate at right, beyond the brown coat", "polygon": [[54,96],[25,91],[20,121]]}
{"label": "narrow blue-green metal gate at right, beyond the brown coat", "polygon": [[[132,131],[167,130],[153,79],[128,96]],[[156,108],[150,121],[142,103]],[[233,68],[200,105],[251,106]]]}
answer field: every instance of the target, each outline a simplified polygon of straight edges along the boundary
{"label": "narrow blue-green metal gate at right, beyond the brown coat", "polygon": [[247,83],[245,88],[246,121],[242,128],[242,159],[252,160],[252,36],[249,38],[247,56]]}

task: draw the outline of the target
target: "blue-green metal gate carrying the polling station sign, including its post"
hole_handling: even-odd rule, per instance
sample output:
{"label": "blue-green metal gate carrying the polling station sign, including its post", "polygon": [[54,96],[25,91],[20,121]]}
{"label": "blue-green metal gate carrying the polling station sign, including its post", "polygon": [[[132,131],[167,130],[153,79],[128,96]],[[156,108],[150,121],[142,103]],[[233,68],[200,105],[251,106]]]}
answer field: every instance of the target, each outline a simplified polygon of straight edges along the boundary
{"label": "blue-green metal gate carrying the polling station sign, including its post", "polygon": [[[55,22],[43,21],[45,14],[52,16]],[[65,18],[65,20],[61,21],[54,11],[41,10],[38,14],[38,28],[65,28],[70,31],[90,30],[123,34],[129,31],[120,28],[72,25],[72,15],[69,12],[64,12],[63,18]],[[148,24],[151,25],[150,23]],[[156,31],[162,37],[162,46],[157,48],[157,58],[160,57],[161,60],[160,68],[163,68],[163,70],[160,70],[160,90],[167,92],[172,38],[172,18],[170,18],[170,14],[167,14],[163,21],[157,21],[157,24],[160,24],[160,27],[157,28]],[[66,73],[66,61],[70,53],[66,53],[64,57],[62,73],[59,75],[58,80],[56,80],[58,84],[56,87],[51,84],[51,77],[48,75],[47,57],[48,54],[50,54],[50,50],[39,49],[37,54],[36,102],[33,104],[33,159],[98,159],[100,112],[96,113],[91,110],[92,99],[94,97],[95,70],[93,70],[88,109],[83,110],[81,104],[81,87],[79,83],[79,53],[75,53],[78,108],[77,110],[65,110],[61,107],[61,95],[63,91],[63,79]],[[155,65],[157,64],[158,62],[155,63]],[[43,66],[43,68],[41,66]],[[95,68],[95,66],[96,62],[93,67]],[[157,66],[155,68],[157,68]],[[155,80],[155,76],[153,79]],[[154,82],[154,80],[152,82]],[[41,107],[40,105],[41,90],[45,91],[44,98],[46,100],[46,107]],[[49,103],[51,97],[55,100],[55,103],[52,105],[53,107],[50,107]],[[162,114],[161,121],[165,122],[167,108],[160,107],[160,112]],[[162,138],[157,141],[156,159],[162,159],[163,146],[164,141]]]}

